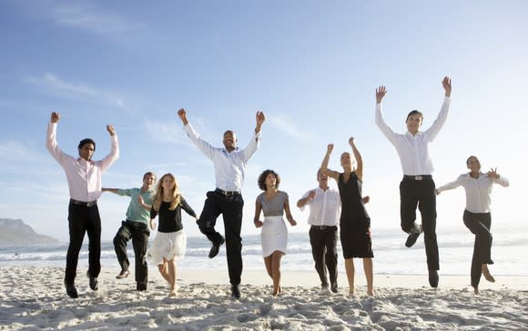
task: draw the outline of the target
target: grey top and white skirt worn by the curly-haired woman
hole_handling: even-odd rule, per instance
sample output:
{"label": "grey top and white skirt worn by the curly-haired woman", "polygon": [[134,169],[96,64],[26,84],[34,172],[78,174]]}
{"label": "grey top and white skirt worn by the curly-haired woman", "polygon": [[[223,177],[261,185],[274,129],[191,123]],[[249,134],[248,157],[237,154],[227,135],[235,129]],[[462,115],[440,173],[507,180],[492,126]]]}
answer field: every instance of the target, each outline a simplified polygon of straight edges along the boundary
{"label": "grey top and white skirt worn by the curly-haired woman", "polygon": [[260,243],[262,245],[262,256],[270,256],[273,252],[279,251],[286,254],[288,245],[288,228],[284,221],[284,203],[288,200],[286,192],[278,191],[277,195],[270,201],[266,194],[262,193],[257,197],[262,212],[264,213],[264,224],[260,232]]}

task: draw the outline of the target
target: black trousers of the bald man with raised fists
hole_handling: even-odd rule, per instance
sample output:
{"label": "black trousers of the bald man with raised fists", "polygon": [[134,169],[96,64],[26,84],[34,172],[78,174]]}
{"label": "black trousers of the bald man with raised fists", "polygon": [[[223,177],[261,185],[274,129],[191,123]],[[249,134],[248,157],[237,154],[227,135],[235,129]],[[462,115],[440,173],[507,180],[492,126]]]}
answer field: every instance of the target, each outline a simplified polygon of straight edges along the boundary
{"label": "black trousers of the bald man with raised fists", "polygon": [[202,234],[206,235],[213,244],[219,244],[222,236],[215,230],[217,218],[224,217],[224,231],[226,235],[226,254],[228,257],[229,282],[240,284],[242,275],[242,208],[244,200],[239,194],[224,196],[217,191],[207,194],[202,214],[197,224]]}

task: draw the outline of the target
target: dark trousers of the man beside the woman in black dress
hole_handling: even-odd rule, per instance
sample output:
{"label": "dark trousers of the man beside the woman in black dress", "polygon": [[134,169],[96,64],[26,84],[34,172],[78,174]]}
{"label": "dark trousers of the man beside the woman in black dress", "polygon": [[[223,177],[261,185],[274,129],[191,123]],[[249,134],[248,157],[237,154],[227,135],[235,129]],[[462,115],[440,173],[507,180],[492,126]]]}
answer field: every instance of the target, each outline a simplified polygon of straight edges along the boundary
{"label": "dark trousers of the man beside the woman in black dress", "polygon": [[338,282],[338,227],[310,227],[311,255],[315,261],[315,270],[320,277],[320,285],[327,287],[327,268],[330,274],[330,284]]}

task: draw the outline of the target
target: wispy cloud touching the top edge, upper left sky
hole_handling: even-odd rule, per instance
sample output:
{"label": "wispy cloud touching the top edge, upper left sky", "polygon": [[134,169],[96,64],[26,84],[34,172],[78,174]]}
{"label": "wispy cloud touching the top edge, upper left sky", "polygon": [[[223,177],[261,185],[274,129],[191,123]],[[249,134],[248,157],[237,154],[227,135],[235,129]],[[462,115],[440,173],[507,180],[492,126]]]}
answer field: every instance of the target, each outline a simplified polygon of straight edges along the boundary
{"label": "wispy cloud touching the top edge, upper left sky", "polygon": [[142,28],[142,25],[122,15],[104,13],[86,1],[52,3],[46,6],[45,13],[57,25],[70,26],[110,39],[127,38]]}

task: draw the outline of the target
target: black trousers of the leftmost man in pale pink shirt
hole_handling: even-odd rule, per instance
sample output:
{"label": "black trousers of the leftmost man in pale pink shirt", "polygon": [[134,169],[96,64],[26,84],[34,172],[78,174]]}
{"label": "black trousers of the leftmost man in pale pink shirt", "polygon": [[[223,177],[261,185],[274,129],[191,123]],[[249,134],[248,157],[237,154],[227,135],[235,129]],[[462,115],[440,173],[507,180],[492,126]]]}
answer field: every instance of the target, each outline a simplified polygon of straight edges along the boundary
{"label": "black trousers of the leftmost man in pale pink shirt", "polygon": [[66,284],[74,284],[77,262],[85,233],[88,234],[88,273],[97,277],[101,272],[101,218],[97,205],[82,206],[72,203],[68,206],[70,244],[66,255]]}

